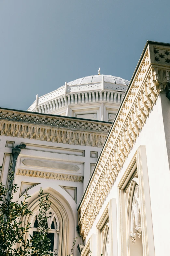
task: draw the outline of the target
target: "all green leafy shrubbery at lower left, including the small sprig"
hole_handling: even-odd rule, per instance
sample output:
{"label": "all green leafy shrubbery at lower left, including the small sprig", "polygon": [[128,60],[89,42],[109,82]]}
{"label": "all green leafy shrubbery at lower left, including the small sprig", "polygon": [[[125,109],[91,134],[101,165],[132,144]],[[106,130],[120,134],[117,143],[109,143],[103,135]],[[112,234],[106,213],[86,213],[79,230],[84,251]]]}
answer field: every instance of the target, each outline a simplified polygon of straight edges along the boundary
{"label": "all green leafy shrubbery at lower left, including the small sprig", "polygon": [[[0,166],[0,173],[2,166]],[[12,163],[9,167],[7,188],[0,183],[0,255],[3,256],[56,256],[50,251],[50,239],[48,237],[47,211],[50,208],[49,194],[44,195],[43,189],[39,191],[39,214],[38,232],[30,235],[30,239],[25,240],[26,232],[30,231],[31,223],[24,225],[22,218],[26,215],[32,215],[27,208],[28,196],[25,190],[24,200],[19,203],[13,201],[13,196],[17,192],[18,187],[13,184],[14,172],[12,171]],[[73,240],[71,255],[73,256],[74,247],[77,237]]]}

